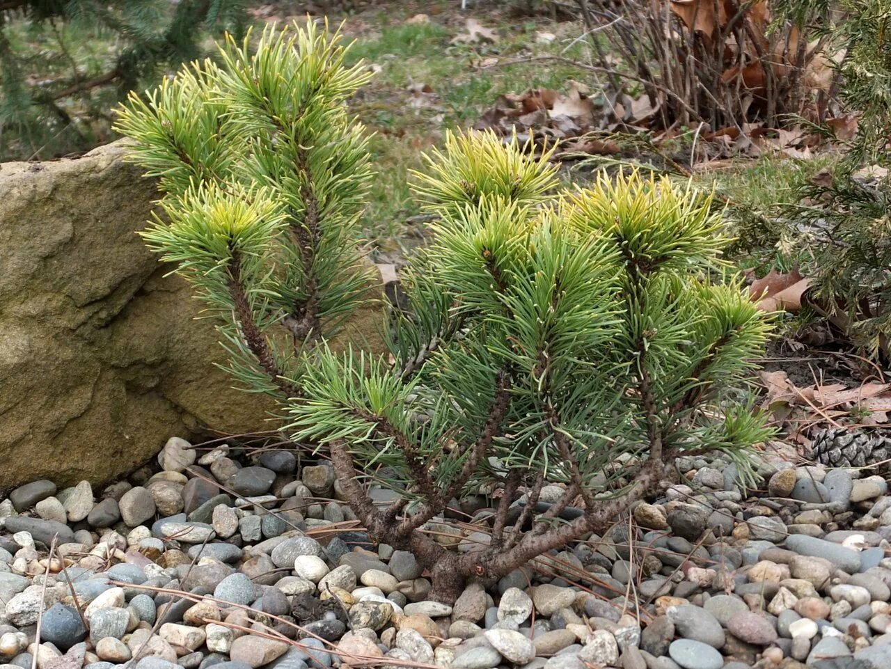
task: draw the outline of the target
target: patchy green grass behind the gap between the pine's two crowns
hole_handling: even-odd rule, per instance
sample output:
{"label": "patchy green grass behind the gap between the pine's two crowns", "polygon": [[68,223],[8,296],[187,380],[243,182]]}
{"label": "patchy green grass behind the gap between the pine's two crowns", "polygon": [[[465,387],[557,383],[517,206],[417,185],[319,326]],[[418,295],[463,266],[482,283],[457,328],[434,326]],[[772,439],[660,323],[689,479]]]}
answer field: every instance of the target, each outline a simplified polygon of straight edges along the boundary
{"label": "patchy green grass behind the gap between the pine's two crowns", "polygon": [[[437,22],[445,22],[441,17],[410,24],[379,12],[376,20],[380,23],[371,32],[356,38],[347,62],[364,60],[380,68],[352,107],[377,133],[372,160],[380,175],[373,185],[366,235],[388,246],[404,232],[405,218],[418,213],[407,184],[408,172],[422,167],[421,151],[438,143],[447,128],[472,126],[501,94],[519,94],[527,88],[563,93],[569,80],[585,79],[584,72],[565,63],[523,62],[490,69],[475,65],[492,57],[499,61],[546,54],[582,58],[586,47],[578,43],[567,48],[561,39],[548,45],[536,43],[536,31],[553,29],[542,20],[498,25],[489,17],[479,17],[487,28],[498,30],[494,44],[453,44],[453,38],[464,32],[462,23],[446,27]],[[409,89],[423,85],[432,90],[429,104],[413,106]]]}

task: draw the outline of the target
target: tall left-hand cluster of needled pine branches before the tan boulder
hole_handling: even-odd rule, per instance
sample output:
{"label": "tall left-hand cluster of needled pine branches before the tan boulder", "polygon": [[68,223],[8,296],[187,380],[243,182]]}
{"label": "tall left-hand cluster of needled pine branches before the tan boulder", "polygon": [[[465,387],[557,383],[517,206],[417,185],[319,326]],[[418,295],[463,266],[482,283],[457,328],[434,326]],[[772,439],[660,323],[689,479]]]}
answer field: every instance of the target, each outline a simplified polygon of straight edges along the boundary
{"label": "tall left-hand cluster of needled pine branches before the tan boulder", "polygon": [[117,129],[165,192],[143,237],[177,263],[222,322],[244,388],[281,399],[307,344],[337,334],[365,300],[358,216],[371,177],[363,127],[344,101],[368,78],[339,35],[267,28],[229,37],[150,94]]}

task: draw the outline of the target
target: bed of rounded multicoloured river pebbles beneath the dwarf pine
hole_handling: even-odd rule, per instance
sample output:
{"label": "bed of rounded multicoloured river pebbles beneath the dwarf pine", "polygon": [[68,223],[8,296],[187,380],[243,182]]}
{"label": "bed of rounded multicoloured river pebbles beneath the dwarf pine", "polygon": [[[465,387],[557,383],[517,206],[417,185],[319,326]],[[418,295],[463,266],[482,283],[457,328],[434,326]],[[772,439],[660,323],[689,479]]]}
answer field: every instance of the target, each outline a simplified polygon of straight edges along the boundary
{"label": "bed of rounded multicoloured river pebbles beneath the dwarf pine", "polygon": [[[684,483],[609,533],[446,605],[351,522],[329,466],[172,438],[102,491],[0,502],[0,669],[887,669],[887,482],[794,456],[771,445],[747,492],[734,465],[682,459]],[[464,539],[429,525],[470,551],[488,503],[454,502]]]}

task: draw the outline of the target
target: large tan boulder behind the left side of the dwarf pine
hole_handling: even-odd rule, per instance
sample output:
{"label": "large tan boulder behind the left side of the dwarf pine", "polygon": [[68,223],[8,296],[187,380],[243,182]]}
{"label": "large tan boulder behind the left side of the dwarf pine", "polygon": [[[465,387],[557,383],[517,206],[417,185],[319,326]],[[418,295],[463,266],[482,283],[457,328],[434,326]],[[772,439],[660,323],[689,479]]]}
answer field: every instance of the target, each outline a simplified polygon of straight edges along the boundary
{"label": "large tan boulder behind the left side of the dwarf pine", "polygon": [[[270,428],[271,400],[231,388],[214,323],[135,234],[159,194],[124,152],[0,164],[2,488],[100,484],[172,435]],[[377,346],[378,322],[349,327]]]}

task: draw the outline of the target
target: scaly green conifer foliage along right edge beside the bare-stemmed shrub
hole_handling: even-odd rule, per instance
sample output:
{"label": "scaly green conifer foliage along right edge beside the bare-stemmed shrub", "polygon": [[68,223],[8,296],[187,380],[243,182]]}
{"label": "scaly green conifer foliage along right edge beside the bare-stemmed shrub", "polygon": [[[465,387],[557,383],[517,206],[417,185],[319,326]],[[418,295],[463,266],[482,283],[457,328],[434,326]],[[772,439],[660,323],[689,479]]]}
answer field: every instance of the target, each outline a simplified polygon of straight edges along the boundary
{"label": "scaly green conifer foliage along right edge beside the bare-stemmed shrub", "polygon": [[[891,356],[891,1],[784,0],[798,21],[811,17],[842,84],[844,110],[857,133],[830,180],[804,184],[801,202],[780,208],[774,256],[816,280],[817,308],[854,346]],[[764,231],[757,230],[756,233]],[[763,235],[762,235],[763,236]]]}

